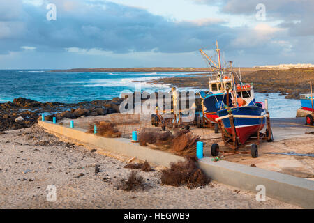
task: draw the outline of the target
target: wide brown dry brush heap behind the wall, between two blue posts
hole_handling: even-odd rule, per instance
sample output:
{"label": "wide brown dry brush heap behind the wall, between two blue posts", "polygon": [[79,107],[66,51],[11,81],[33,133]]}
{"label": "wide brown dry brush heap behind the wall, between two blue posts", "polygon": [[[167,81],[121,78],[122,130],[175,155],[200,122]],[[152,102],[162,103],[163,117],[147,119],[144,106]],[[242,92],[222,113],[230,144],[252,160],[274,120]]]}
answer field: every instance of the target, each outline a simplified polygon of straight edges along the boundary
{"label": "wide brown dry brush heap behind the wall, between two blue posts", "polygon": [[196,143],[200,140],[190,130],[162,132],[156,128],[144,128],[140,132],[140,146],[169,151],[176,155],[196,155]]}

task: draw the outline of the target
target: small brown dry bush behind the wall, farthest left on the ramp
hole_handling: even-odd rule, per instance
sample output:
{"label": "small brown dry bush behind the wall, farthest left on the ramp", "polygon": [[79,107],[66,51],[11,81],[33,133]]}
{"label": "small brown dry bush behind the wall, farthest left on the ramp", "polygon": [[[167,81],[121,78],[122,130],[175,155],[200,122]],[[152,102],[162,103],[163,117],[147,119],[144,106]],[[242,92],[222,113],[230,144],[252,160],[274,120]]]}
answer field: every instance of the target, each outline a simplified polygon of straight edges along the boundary
{"label": "small brown dry bush behind the wall, farthest left on the ramp", "polygon": [[97,127],[96,134],[99,136],[107,138],[121,137],[121,132],[119,132],[110,121],[95,121],[93,124],[89,125],[89,133],[94,133],[94,125]]}

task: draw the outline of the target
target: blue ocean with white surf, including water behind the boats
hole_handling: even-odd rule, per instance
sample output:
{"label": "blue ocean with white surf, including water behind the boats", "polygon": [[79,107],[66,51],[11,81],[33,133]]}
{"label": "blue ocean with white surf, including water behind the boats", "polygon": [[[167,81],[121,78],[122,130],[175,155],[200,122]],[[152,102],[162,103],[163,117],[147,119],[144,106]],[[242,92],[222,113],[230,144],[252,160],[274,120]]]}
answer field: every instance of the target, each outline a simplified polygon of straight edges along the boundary
{"label": "blue ocean with white surf, including water behind the boats", "polygon": [[[147,84],[161,77],[184,77],[191,72],[47,72],[47,70],[0,70],[0,102],[30,98],[40,102],[76,103],[119,97],[121,91],[169,91],[167,84]],[[197,75],[197,72],[194,72]],[[183,89],[181,89],[183,90]],[[199,91],[195,89],[195,91]],[[278,93],[255,93],[257,101],[269,100],[272,118],[295,117],[299,100]]]}

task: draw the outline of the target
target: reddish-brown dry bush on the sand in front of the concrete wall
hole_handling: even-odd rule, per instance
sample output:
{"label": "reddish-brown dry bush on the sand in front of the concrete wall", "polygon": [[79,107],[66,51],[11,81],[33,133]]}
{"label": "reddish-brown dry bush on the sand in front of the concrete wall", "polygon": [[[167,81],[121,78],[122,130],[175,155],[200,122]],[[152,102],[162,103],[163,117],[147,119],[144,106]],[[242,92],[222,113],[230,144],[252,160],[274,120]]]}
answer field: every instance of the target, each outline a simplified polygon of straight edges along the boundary
{"label": "reddish-brown dry bush on the sand in front of the concrete wall", "polygon": [[161,172],[161,183],[189,189],[207,185],[210,179],[197,167],[197,157],[188,156],[186,161],[171,163],[170,168]]}

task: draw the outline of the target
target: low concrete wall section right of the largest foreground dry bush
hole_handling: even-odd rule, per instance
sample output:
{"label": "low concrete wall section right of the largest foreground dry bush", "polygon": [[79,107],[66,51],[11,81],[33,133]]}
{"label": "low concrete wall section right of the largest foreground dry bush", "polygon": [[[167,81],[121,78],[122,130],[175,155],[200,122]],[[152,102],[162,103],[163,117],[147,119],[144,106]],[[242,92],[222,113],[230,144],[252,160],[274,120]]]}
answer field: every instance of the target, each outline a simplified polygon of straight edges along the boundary
{"label": "low concrete wall section right of the largest foreground dry bush", "polygon": [[311,180],[234,162],[214,162],[210,157],[200,160],[199,166],[207,176],[220,183],[251,192],[257,192],[257,185],[264,185],[267,197],[303,208],[314,208],[314,182]]}

